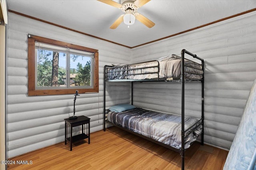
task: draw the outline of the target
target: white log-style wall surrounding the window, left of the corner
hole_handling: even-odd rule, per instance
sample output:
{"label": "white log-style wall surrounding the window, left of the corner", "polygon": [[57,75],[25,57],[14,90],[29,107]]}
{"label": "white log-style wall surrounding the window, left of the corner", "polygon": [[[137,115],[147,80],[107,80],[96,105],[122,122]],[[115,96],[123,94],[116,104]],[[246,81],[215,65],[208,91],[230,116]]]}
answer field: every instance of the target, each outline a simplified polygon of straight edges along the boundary
{"label": "white log-style wall surrounding the window, left of the corner", "polygon": [[[8,157],[64,141],[64,119],[73,115],[74,95],[28,97],[28,34],[99,50],[99,93],[80,94],[76,115],[91,118],[91,132],[102,130],[103,67],[130,63],[131,50],[13,13],[8,16]],[[113,95],[114,89],[117,95]],[[130,84],[110,84],[106,105],[129,103],[130,97]],[[80,130],[74,128],[74,134]]]}

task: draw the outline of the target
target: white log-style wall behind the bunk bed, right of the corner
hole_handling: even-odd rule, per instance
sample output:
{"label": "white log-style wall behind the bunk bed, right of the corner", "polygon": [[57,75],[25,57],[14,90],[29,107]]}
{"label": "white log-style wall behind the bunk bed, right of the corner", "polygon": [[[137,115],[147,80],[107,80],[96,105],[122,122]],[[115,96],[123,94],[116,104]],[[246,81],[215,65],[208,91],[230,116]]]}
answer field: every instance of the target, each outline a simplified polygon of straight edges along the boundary
{"label": "white log-style wall behind the bunk bed, right of the corner", "polygon": [[[131,49],[131,60],[136,63],[171,54],[180,55],[182,49],[203,58],[206,66],[204,141],[229,149],[252,83],[256,79],[255,47],[256,12],[250,12]],[[198,90],[201,86],[196,88],[195,85],[185,84],[185,115],[200,117],[200,100],[196,100],[200,98]],[[134,95],[136,106],[180,114],[181,84],[148,83],[134,88],[134,92],[138,92]],[[191,101],[193,94],[194,103]],[[146,99],[142,100],[143,97]]]}

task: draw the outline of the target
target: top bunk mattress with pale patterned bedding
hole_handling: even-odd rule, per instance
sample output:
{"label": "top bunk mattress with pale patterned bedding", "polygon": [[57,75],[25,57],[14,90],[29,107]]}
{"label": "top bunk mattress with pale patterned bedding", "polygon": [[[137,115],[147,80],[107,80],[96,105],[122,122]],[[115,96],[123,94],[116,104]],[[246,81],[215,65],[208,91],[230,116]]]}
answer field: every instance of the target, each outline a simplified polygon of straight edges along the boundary
{"label": "top bunk mattress with pale patterned bedding", "polygon": [[[107,68],[107,80],[145,80],[158,78],[158,63],[159,63],[159,78],[180,78],[181,75],[181,57],[177,55],[168,55],[157,61],[150,61],[139,64],[112,64],[112,68]],[[188,61],[184,61],[185,79],[202,79],[202,65]]]}

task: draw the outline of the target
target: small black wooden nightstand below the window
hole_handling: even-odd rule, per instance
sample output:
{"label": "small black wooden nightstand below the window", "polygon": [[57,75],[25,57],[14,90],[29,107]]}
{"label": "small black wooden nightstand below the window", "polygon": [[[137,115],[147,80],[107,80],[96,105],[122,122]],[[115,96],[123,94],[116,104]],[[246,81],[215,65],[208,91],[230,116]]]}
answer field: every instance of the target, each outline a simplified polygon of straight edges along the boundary
{"label": "small black wooden nightstand below the window", "polygon": [[[67,144],[67,141],[70,143],[70,151],[72,150],[72,143],[75,141],[88,138],[88,144],[90,144],[90,118],[89,117],[78,116],[77,119],[68,118],[64,120],[65,120],[65,145]],[[82,126],[82,133],[79,135],[72,136],[72,127],[76,127],[80,125]]]}

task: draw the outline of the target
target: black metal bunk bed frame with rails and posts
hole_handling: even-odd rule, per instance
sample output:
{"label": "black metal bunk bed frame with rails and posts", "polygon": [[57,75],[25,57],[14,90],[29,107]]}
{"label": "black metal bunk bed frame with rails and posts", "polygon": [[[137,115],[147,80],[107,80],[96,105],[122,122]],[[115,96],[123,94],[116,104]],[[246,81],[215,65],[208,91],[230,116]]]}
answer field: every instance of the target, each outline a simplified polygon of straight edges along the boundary
{"label": "black metal bunk bed frame with rails and posts", "polygon": [[[185,53],[190,55],[190,56],[192,56],[193,58],[196,58],[196,59],[200,60],[201,63],[202,63],[202,64],[200,64],[202,66],[202,70],[203,70],[202,79],[188,79],[188,80],[201,81],[201,83],[202,83],[202,115],[201,115],[201,119],[198,122],[201,122],[199,125],[202,125],[201,145],[204,145],[204,59],[201,59],[197,55],[194,55],[193,53],[190,53],[189,51],[186,51],[185,49],[183,49],[181,51],[181,76],[180,77],[176,77],[176,78],[172,78],[170,81],[166,80],[166,78],[159,78],[159,62],[158,61],[156,61],[156,62],[158,62],[158,66],[157,66],[158,67],[158,72],[150,72],[150,74],[157,73],[158,74],[158,78],[156,78],[156,79],[146,79],[146,80],[134,80],[134,79],[108,80],[108,78],[107,78],[108,76],[107,76],[106,70],[107,70],[107,68],[113,68],[115,66],[105,65],[104,66],[104,94],[103,94],[104,95],[104,99],[103,99],[104,100],[104,106],[103,106],[104,107],[104,112],[103,112],[103,114],[104,114],[104,117],[103,117],[103,119],[104,119],[104,129],[103,130],[104,131],[106,131],[106,123],[109,123],[109,124],[111,124],[113,126],[116,126],[116,127],[120,128],[120,129],[123,129],[125,131],[130,132],[130,133],[133,133],[134,135],[138,135],[138,136],[140,136],[140,137],[142,137],[144,139],[152,141],[152,142],[154,142],[154,143],[156,143],[158,145],[161,145],[163,147],[166,147],[166,148],[168,148],[170,150],[174,150],[176,152],[180,152],[181,159],[182,159],[182,163],[181,163],[181,169],[182,170],[184,170],[184,164],[185,164],[185,160],[184,160],[184,158],[185,158],[185,150],[186,150],[185,149],[185,144],[186,144],[185,143],[185,138],[190,133],[192,133],[192,131],[194,131],[194,129],[196,129],[199,126],[199,125],[196,125],[198,123],[198,122],[196,122],[194,125],[192,125],[188,129],[186,129],[186,131],[185,131],[185,121],[184,121],[185,120],[185,82],[186,82],[185,81],[186,80],[186,78],[185,78],[186,71],[184,69],[184,66],[186,65],[185,62],[184,62],[184,60],[186,59],[184,57]],[[189,59],[186,59],[186,60],[191,61]],[[151,61],[148,61],[148,62],[151,62]],[[194,61],[191,61],[191,62],[196,63]],[[146,63],[146,62],[142,62],[142,63]],[[140,64],[140,63],[135,63],[135,64]],[[199,64],[199,63],[197,63],[197,64]],[[128,75],[135,75],[135,74],[128,74],[128,70],[129,70],[128,69],[128,65],[133,65],[133,64],[127,64],[126,65],[127,69],[126,69],[125,76],[127,77]],[[186,65],[186,66],[188,66],[188,65]],[[155,67],[155,66],[153,66],[153,67]],[[191,67],[191,66],[188,66],[188,67]],[[144,68],[152,68],[152,66],[144,67]],[[136,68],[136,69],[141,69],[141,68]],[[136,70],[136,69],[132,69],[132,70]],[[120,71],[120,70],[118,70],[118,71]],[[190,73],[190,72],[188,72],[188,73]],[[142,74],[149,74],[149,73],[142,73]],[[176,149],[176,148],[171,147],[169,145],[166,145],[164,143],[155,141],[154,139],[151,139],[149,137],[145,137],[145,136],[143,136],[141,134],[135,133],[133,131],[130,131],[130,130],[124,128],[124,127],[121,127],[119,125],[116,125],[116,124],[111,123],[110,121],[106,120],[106,111],[107,111],[106,110],[106,82],[123,82],[123,81],[131,82],[131,104],[133,104],[133,83],[134,82],[173,82],[173,81],[177,81],[177,80],[180,80],[180,82],[181,82],[181,98],[182,98],[182,102],[181,102],[181,119],[182,119],[182,125],[181,125],[181,149]],[[190,130],[190,129],[192,129],[192,131],[189,134],[185,135],[185,133],[188,130]]]}

